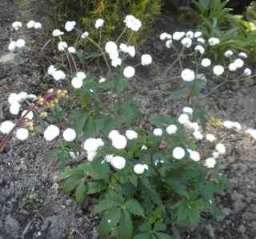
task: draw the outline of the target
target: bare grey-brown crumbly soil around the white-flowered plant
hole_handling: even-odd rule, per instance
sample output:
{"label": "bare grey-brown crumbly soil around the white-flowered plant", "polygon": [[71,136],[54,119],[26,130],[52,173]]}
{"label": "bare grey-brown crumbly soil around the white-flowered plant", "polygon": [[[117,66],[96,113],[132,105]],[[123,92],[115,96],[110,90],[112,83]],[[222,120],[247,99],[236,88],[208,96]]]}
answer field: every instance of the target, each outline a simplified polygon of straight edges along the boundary
{"label": "bare grey-brown crumbly soil around the white-flowered plant", "polygon": [[[8,53],[10,26],[21,19],[19,16],[13,1],[1,0],[0,122],[11,118],[7,109],[10,92],[25,90],[38,94],[44,90],[45,79],[37,52],[26,49],[22,56]],[[149,38],[149,44],[141,51],[152,54],[160,61],[159,67],[165,69],[172,57],[158,40],[158,35],[181,28],[169,14],[163,14]],[[187,29],[187,26],[183,28]],[[178,75],[175,67],[169,76]],[[181,83],[164,83],[155,77],[156,72],[138,68],[138,76],[131,83],[130,90],[141,102],[143,114],[180,114],[186,102],[170,102],[166,96],[180,89]],[[204,94],[218,84],[206,80]],[[198,103],[207,114],[256,128],[255,92],[254,79],[226,84],[207,98],[202,96]],[[231,193],[216,196],[225,217],[222,220],[203,218],[197,229],[182,232],[182,239],[256,239],[256,143],[242,133],[218,127],[211,130],[225,139],[228,149],[222,159],[222,170],[230,180]],[[56,183],[58,161],[46,161],[44,157],[51,147],[53,145],[43,140],[42,132],[37,132],[25,142],[12,139],[0,154],[0,239],[98,238],[98,218],[90,216],[94,201],[87,200],[78,206],[72,197],[62,193]]]}

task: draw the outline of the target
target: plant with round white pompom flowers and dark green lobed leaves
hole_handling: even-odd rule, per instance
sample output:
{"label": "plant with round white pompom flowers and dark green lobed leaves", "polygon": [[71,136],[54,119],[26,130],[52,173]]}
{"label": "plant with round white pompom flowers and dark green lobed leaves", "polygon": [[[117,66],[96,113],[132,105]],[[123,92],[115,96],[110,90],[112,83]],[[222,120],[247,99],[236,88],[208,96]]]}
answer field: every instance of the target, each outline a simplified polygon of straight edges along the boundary
{"label": "plant with round white pompom flowers and dark green lobed leaves", "polygon": [[[36,22],[29,23],[28,28],[35,28]],[[142,26],[132,15],[126,16],[124,23],[124,32],[129,30],[130,34]],[[66,32],[74,30],[75,25],[74,21],[66,22]],[[98,19],[94,26],[101,34],[104,20]],[[14,24],[15,30],[21,27],[20,23]],[[198,110],[184,107],[177,120],[156,115],[150,119],[154,128],[146,127],[139,118],[136,103],[129,100],[130,96],[126,98],[126,88],[136,73],[136,66],[152,64],[151,56],[143,54],[136,66],[123,66],[126,58],[134,58],[136,54],[129,39],[119,44],[121,34],[115,42],[102,46],[102,42],[94,42],[90,34],[84,32],[79,35],[78,46],[81,42],[92,43],[106,63],[107,77],[94,77],[79,69],[78,50],[75,44],[69,46],[63,35],[62,30],[53,31],[54,38],[59,40],[61,66],[67,67],[51,65],[47,74],[57,84],[62,82],[62,86],[70,78],[71,86],[67,86],[68,90],[48,90],[39,97],[25,92],[10,94],[11,114],[18,115],[26,103],[29,108],[15,124],[2,122],[0,131],[6,137],[0,149],[14,131],[20,140],[26,140],[28,129],[34,129],[34,114],[45,118],[42,123],[46,124],[46,141],[56,140],[62,132],[64,140],[58,142],[48,157],[57,154],[64,165],[73,159],[74,165],[67,167],[58,181],[66,193],[74,193],[78,204],[86,197],[97,198],[92,213],[103,214],[99,233],[105,238],[164,239],[172,238],[170,234],[178,237],[178,227],[198,225],[203,212],[221,217],[214,193],[228,189],[226,178],[218,172],[218,158],[226,153],[226,147],[213,134],[203,132]],[[190,31],[172,36],[165,33],[160,38],[166,40],[168,48],[174,47],[173,41],[181,40],[184,50],[192,46],[192,38],[202,42],[203,38],[198,41],[200,36],[200,32]],[[208,42],[218,45],[219,40],[211,38]],[[21,50],[26,45],[23,43],[20,46],[10,42],[9,49]],[[200,46],[195,49],[202,55],[204,47]],[[183,69],[181,60],[182,56],[178,55],[176,62],[180,62],[182,70],[178,77],[188,83],[196,82],[198,71]],[[235,66],[241,66],[241,61],[234,62]],[[211,64],[206,58],[202,59],[204,63],[199,62],[203,67]],[[214,66],[214,74],[221,75],[222,68]],[[113,69],[119,69],[121,74],[115,74]],[[225,121],[224,126],[242,129],[238,122]],[[255,129],[246,132],[256,138]]]}

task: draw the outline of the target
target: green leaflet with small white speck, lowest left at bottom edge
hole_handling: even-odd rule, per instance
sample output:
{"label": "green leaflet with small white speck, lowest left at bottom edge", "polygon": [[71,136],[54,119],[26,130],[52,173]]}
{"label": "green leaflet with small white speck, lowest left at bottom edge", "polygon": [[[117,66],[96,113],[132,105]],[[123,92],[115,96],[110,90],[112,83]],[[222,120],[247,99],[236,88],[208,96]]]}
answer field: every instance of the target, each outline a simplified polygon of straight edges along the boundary
{"label": "green leaflet with small white speck, lowest left at bottom edge", "polygon": [[107,237],[110,231],[118,224],[121,217],[121,209],[113,208],[104,213],[104,217],[99,224],[98,230],[102,237]]}

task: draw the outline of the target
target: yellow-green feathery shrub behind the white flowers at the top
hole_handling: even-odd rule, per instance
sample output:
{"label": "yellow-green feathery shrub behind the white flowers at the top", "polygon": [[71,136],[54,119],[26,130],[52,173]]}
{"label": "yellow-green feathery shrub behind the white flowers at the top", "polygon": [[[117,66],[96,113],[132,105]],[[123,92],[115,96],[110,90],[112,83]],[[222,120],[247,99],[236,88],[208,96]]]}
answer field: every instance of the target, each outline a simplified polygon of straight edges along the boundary
{"label": "yellow-green feathery shrub behind the white flowers at the top", "polygon": [[[132,14],[144,23],[139,34],[134,34],[131,42],[142,43],[145,38],[142,36],[152,30],[154,21],[161,11],[162,3],[159,0],[44,0],[42,2],[34,0],[20,0],[26,4],[26,9],[30,6],[32,11],[38,11],[45,19],[45,26],[48,30],[53,27],[62,26],[67,20],[73,19],[81,22],[84,30],[90,29],[92,38],[98,38],[98,31],[91,30],[94,22],[98,18],[106,20],[103,40],[116,37],[122,31],[123,18],[126,14]],[[42,8],[43,6],[43,8]],[[38,10],[37,10],[38,7]],[[34,14],[32,14],[34,16]],[[30,16],[31,18],[31,16]],[[143,40],[143,41],[142,41]]]}

